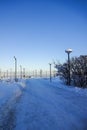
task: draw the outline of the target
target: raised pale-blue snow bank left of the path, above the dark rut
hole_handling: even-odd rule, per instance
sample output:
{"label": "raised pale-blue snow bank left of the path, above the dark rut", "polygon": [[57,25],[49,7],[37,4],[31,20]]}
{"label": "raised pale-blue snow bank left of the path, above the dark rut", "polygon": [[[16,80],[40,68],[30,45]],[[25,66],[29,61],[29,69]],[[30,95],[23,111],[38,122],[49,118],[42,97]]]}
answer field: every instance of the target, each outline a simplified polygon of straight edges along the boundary
{"label": "raised pale-blue snow bank left of the path, above the dark rut", "polygon": [[24,88],[25,82],[23,80],[18,82],[14,82],[14,80],[0,81],[0,125],[22,95]]}

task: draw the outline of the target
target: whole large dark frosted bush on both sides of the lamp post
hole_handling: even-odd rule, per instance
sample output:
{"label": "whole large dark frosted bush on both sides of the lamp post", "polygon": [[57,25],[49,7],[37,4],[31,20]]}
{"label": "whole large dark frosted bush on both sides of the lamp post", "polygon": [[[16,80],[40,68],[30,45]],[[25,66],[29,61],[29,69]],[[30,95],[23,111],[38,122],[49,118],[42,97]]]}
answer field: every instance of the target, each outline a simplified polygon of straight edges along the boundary
{"label": "whole large dark frosted bush on both sides of the lamp post", "polygon": [[[68,84],[68,61],[63,64],[56,64],[60,78]],[[82,88],[87,87],[87,56],[73,57],[70,60],[71,84]]]}

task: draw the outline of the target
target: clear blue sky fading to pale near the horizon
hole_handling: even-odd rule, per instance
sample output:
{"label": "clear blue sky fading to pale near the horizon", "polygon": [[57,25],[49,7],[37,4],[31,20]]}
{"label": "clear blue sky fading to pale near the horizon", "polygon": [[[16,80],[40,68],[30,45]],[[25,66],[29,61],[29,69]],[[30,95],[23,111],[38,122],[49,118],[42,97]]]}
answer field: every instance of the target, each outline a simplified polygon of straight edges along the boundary
{"label": "clear blue sky fading to pale near the horizon", "polygon": [[0,68],[46,69],[87,54],[87,0],[0,0]]}

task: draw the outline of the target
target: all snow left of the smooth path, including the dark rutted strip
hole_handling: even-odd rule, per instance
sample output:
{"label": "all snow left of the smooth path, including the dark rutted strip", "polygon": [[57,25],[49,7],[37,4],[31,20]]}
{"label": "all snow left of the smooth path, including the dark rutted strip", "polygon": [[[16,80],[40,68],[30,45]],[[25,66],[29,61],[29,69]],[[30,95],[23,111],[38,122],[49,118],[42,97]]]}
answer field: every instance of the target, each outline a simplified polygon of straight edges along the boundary
{"label": "all snow left of the smooth path, including the dark rutted strip", "polygon": [[13,130],[15,107],[22,96],[24,81],[0,81],[0,130]]}

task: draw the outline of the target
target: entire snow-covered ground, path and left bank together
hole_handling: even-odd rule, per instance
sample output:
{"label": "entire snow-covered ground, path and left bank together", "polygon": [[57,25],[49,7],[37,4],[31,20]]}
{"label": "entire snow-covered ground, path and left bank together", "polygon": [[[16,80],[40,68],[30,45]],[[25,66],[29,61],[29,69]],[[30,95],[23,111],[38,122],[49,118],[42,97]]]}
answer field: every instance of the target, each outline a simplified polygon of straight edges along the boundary
{"label": "entire snow-covered ground, path and left bank together", "polygon": [[0,130],[87,130],[87,89],[56,78],[1,81]]}

